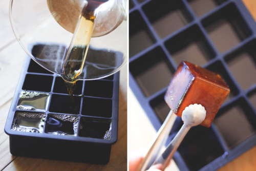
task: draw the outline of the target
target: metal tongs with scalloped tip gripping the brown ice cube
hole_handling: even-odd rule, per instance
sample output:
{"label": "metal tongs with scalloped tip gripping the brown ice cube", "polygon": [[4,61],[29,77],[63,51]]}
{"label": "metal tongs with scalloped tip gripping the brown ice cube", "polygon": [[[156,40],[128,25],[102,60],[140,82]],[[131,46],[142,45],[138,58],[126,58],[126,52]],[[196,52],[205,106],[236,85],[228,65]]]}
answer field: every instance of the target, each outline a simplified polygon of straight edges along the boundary
{"label": "metal tongs with scalloped tip gripping the brown ice cube", "polygon": [[150,167],[164,170],[168,166],[170,160],[173,158],[174,153],[177,151],[177,148],[179,147],[181,141],[190,130],[190,128],[202,123],[202,121],[205,119],[205,116],[206,111],[204,106],[201,104],[190,104],[187,106],[182,113],[182,120],[184,121],[184,124],[182,125],[178,134],[165,148],[164,152],[159,155],[161,152],[160,149],[166,142],[170,130],[172,130],[174,122],[177,118],[177,115],[174,114],[171,110],[164,123],[160,127],[150,149],[148,150],[143,160],[140,162],[136,171],[145,171]]}

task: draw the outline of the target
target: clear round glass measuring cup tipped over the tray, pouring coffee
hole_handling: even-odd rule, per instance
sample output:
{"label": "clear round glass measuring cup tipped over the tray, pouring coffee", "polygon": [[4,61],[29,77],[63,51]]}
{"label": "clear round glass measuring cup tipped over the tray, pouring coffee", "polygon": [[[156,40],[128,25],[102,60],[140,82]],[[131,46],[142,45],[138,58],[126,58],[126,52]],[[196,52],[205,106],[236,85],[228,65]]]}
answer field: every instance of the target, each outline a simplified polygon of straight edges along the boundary
{"label": "clear round glass measuring cup tipped over the tray, pouring coffee", "polygon": [[[69,58],[78,37],[79,15],[87,10],[84,7],[92,7],[92,2],[98,5],[93,11],[96,18],[88,38],[90,46],[88,42],[83,56]],[[125,17],[126,0],[12,0],[10,3],[11,25],[19,44],[40,66],[70,82],[103,78],[125,65]],[[79,66],[75,77],[65,74],[67,65]]]}

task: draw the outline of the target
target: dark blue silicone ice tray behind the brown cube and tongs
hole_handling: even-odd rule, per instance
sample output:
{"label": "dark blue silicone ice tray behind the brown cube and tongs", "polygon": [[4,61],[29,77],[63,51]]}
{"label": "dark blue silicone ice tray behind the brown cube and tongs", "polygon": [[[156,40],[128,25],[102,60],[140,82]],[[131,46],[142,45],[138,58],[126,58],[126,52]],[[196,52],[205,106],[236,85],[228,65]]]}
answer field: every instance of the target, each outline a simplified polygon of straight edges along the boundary
{"label": "dark blue silicone ice tray behind the brown cube and tongs", "polygon": [[[164,94],[182,60],[219,73],[230,88],[210,128],[193,127],[181,143],[174,155],[180,170],[216,170],[256,145],[256,23],[242,1],[130,4],[130,39],[139,40],[130,41],[130,87],[156,130],[170,110]],[[134,34],[141,28],[147,38]],[[182,124],[178,117],[168,142]]]}

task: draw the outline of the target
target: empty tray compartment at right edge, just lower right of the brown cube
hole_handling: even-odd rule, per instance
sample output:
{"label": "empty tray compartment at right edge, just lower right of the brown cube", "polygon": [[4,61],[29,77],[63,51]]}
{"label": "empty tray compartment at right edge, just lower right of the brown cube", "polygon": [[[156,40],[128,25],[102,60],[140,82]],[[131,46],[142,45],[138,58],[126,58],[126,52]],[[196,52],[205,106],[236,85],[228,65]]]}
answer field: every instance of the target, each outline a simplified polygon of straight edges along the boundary
{"label": "empty tray compartment at right edge, just lower right of the brown cube", "polygon": [[255,122],[253,111],[246,101],[240,98],[220,110],[213,123],[228,148],[232,149],[256,133]]}

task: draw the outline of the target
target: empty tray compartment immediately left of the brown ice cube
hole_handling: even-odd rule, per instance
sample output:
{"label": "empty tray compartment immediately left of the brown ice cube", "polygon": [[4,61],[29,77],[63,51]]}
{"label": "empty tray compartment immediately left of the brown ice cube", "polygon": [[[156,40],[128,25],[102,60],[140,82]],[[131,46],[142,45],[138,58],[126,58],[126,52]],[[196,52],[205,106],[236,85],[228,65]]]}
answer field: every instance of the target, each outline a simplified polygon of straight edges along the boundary
{"label": "empty tray compartment immediately left of the brown ice cube", "polygon": [[168,86],[174,72],[160,47],[131,62],[129,69],[146,97]]}

